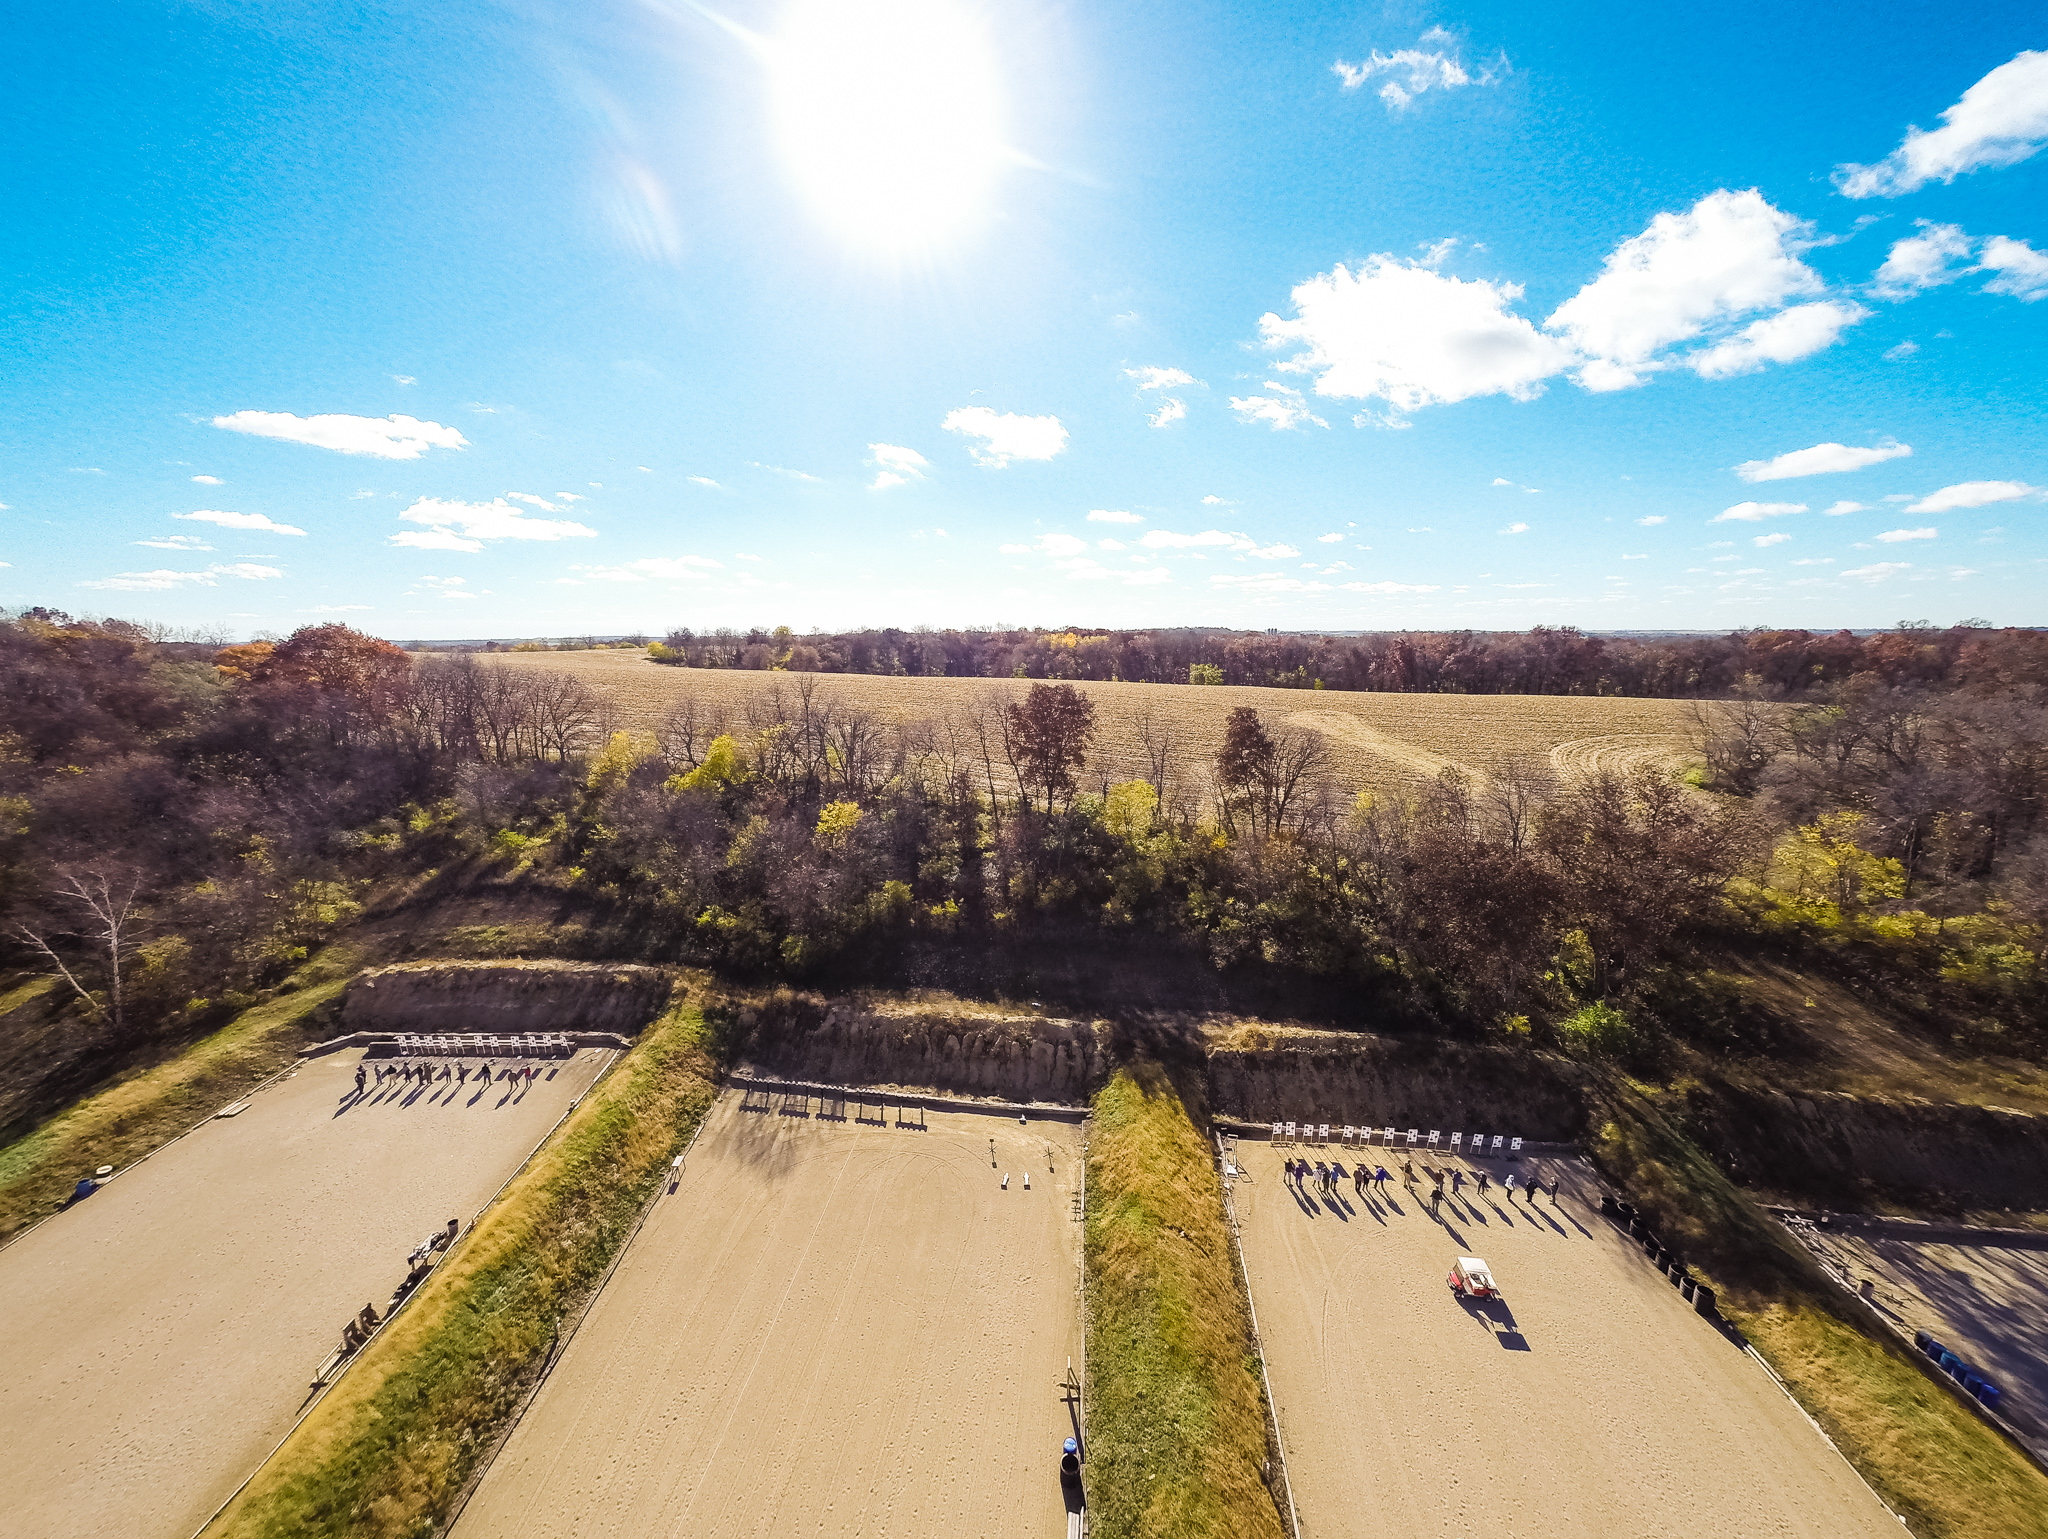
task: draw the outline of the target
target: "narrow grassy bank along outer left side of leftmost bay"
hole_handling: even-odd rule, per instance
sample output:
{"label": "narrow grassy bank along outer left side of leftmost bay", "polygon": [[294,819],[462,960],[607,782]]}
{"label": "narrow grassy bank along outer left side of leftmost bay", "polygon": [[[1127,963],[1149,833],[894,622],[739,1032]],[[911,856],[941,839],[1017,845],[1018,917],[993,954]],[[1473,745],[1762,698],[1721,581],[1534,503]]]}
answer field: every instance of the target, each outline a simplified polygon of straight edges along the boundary
{"label": "narrow grassy bank along outer left side of leftmost bay", "polygon": [[307,1043],[307,1018],[340,996],[350,957],[324,957],[295,990],[250,1006],[168,1064],[137,1070],[0,1150],[0,1240],[49,1217],[98,1166],[125,1168],[246,1094]]}

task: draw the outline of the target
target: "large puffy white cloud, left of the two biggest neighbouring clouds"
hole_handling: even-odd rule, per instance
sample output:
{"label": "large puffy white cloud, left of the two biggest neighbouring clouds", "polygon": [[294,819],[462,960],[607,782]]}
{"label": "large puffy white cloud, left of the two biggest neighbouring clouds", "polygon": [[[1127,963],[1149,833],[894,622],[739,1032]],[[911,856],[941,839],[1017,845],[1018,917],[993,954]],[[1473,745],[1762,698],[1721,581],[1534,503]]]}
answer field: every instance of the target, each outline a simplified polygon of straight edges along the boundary
{"label": "large puffy white cloud, left of the two biggest neighbouring clouds", "polygon": [[[1339,262],[1294,285],[1294,320],[1268,311],[1260,336],[1270,348],[1298,348],[1278,367],[1313,375],[1317,396],[1382,400],[1389,414],[1372,420],[1393,426],[1401,412],[1475,396],[1526,402],[1542,393],[1544,379],[1571,367],[1569,344],[1544,336],[1509,307],[1520,297],[1516,283],[1454,279],[1382,252],[1356,271]],[[1268,383],[1268,389],[1282,387]],[[1231,408],[1247,420],[1266,416],[1274,426],[1294,426],[1307,416],[1294,408],[1280,420],[1272,410],[1247,412],[1237,400]]]}

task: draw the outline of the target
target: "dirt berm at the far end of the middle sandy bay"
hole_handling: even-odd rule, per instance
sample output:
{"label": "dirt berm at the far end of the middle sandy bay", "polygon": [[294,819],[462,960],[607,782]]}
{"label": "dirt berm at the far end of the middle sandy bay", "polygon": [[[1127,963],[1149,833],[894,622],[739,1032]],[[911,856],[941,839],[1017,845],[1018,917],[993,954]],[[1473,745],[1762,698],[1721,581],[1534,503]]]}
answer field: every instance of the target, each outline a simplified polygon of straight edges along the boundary
{"label": "dirt berm at the far end of the middle sandy bay", "polygon": [[1085,1100],[1108,1033],[987,1006],[776,996],[739,1012],[762,1070],[829,1084],[920,1084],[1016,1100]]}

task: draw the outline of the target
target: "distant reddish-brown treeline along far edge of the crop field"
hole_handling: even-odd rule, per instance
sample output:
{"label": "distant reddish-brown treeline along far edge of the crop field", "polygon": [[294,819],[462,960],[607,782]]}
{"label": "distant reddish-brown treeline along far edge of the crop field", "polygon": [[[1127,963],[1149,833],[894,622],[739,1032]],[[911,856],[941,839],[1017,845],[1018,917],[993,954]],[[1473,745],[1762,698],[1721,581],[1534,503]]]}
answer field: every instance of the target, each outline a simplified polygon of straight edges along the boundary
{"label": "distant reddish-brown treeline along far edge of the crop field", "polygon": [[786,668],[944,678],[1087,678],[1151,684],[1268,684],[1427,695],[1720,697],[1753,680],[1800,699],[1855,676],[1925,689],[2048,684],[2048,631],[1980,623],[1892,631],[1733,631],[1729,635],[1585,635],[1532,631],[934,631],[797,635],[672,631],[657,662],[684,668]]}

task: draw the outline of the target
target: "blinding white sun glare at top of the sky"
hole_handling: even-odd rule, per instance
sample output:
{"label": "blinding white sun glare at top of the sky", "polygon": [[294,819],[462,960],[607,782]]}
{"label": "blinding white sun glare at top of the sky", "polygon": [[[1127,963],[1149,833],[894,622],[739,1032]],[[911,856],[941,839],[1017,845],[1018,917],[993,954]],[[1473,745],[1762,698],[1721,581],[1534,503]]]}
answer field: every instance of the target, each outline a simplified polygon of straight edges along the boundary
{"label": "blinding white sun glare at top of the sky", "polygon": [[797,0],[770,61],[782,154],[844,240],[911,254],[987,211],[1010,154],[977,12],[948,0]]}

